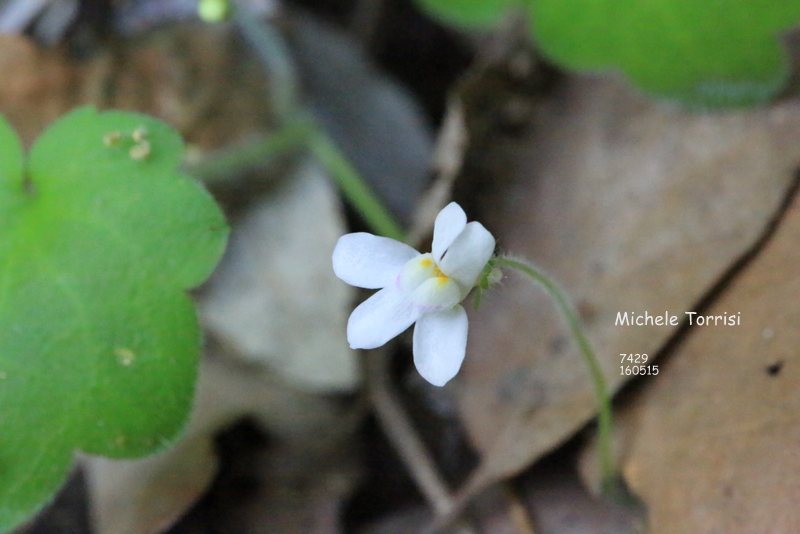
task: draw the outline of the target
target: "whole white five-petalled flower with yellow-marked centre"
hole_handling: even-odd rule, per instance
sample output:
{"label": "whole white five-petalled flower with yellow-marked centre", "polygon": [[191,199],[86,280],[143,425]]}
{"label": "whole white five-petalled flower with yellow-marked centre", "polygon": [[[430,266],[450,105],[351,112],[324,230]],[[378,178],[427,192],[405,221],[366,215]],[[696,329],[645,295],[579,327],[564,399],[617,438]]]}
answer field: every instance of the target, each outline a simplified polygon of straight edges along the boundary
{"label": "whole white five-petalled flower with yellow-marked centre", "polygon": [[425,380],[445,385],[464,361],[467,313],[459,304],[475,286],[494,252],[492,234],[467,223],[451,202],[436,217],[433,252],[367,233],[339,238],[333,271],[350,285],[380,289],[350,315],[347,341],[374,349],[414,322],[414,364]]}

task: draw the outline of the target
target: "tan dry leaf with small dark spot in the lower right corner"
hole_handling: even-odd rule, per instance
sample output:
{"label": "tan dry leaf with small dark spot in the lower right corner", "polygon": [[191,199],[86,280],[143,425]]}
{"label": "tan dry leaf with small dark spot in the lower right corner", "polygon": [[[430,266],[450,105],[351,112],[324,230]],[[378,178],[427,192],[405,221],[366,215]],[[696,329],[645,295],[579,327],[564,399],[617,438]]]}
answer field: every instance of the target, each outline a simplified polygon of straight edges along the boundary
{"label": "tan dry leaf with small dark spot in the lower right corner", "polygon": [[651,534],[800,532],[800,198],[623,410],[623,474]]}

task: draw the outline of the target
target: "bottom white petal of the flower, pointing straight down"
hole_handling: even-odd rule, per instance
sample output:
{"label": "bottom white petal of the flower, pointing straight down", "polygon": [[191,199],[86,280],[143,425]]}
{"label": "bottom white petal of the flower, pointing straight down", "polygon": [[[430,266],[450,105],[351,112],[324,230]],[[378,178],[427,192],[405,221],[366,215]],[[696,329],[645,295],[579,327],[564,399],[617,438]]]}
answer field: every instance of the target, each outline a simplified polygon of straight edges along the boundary
{"label": "bottom white petal of the flower, pointing straight down", "polygon": [[414,327],[414,365],[422,378],[443,386],[456,376],[467,351],[468,327],[462,306],[419,318]]}

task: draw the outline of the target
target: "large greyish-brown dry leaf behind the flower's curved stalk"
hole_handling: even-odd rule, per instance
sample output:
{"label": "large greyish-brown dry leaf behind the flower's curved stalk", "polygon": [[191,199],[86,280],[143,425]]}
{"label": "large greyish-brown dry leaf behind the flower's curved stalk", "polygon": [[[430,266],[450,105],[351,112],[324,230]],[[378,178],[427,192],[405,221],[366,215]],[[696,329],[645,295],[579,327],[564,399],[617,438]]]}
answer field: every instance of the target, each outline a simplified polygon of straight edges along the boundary
{"label": "large greyish-brown dry leaf behind the flower's curved stalk", "polygon": [[[683,318],[753,246],[800,161],[800,100],[711,115],[571,77],[537,116],[477,216],[572,295],[617,389],[619,354],[654,355],[677,328],[615,326],[617,312]],[[470,317],[456,393],[483,462],[462,496],[572,435],[595,414],[592,391],[552,304],[509,273]]]}

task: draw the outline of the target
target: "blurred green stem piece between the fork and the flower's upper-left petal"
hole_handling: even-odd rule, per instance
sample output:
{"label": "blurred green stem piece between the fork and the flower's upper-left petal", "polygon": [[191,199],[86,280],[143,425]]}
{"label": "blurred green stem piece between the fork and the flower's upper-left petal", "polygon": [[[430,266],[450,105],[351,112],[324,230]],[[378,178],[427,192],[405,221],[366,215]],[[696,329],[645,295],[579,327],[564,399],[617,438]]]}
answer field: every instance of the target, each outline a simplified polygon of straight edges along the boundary
{"label": "blurred green stem piece between the fork and the flower's upper-left petal", "polygon": [[312,136],[311,153],[327,169],[345,198],[358,210],[376,234],[398,241],[405,239],[403,228],[369,189],[361,175],[339,148],[322,132]]}

